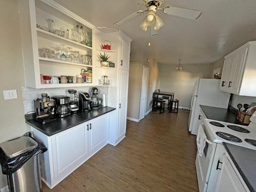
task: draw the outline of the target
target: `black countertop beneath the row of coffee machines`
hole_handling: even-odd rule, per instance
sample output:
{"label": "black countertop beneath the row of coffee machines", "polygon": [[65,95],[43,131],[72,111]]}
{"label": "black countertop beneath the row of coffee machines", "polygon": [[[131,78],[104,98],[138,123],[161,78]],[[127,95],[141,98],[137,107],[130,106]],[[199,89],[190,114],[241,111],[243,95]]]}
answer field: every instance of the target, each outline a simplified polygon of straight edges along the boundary
{"label": "black countertop beneath the row of coffee machines", "polygon": [[29,119],[26,116],[26,123],[35,127],[38,131],[46,134],[47,136],[52,136],[54,134],[60,133],[67,129],[70,129],[73,126],[78,124],[87,122],[91,119],[114,111],[116,108],[111,108],[110,106],[106,106],[105,108],[100,108],[97,110],[92,110],[90,112],[78,112],[76,114],[71,114],[67,117],[57,118],[56,121],[52,121],[46,124],[41,124],[36,119]]}

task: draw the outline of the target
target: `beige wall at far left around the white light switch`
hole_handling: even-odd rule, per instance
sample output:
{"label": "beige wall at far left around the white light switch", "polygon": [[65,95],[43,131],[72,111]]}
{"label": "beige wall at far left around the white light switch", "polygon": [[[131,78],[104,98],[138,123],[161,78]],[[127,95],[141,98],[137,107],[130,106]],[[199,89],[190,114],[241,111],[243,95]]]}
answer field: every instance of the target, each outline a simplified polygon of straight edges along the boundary
{"label": "beige wall at far left around the white light switch", "polygon": [[[19,17],[15,0],[1,1],[0,6],[0,143],[23,135],[25,124],[22,86],[25,84]],[[18,99],[4,100],[3,90],[17,90]],[[6,186],[0,171],[0,189]]]}

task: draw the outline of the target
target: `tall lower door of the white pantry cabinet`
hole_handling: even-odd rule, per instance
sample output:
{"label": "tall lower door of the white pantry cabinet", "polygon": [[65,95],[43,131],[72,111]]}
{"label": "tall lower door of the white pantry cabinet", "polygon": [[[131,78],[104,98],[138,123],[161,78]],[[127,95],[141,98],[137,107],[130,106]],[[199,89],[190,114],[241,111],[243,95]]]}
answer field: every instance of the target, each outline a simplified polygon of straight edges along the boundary
{"label": "tall lower door of the white pantry cabinet", "polygon": [[129,71],[119,70],[119,117],[117,139],[126,133],[127,97],[128,97]]}

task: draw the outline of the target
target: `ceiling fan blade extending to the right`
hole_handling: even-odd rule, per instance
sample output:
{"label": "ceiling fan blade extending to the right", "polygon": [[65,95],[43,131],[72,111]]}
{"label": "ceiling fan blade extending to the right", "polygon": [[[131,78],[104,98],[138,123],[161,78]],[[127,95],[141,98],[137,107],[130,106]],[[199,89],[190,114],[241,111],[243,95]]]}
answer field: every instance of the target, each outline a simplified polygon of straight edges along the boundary
{"label": "ceiling fan blade extending to the right", "polygon": [[199,19],[204,14],[203,11],[184,9],[184,8],[172,7],[172,6],[166,7],[163,10],[163,12],[169,15],[175,15],[179,17],[194,19],[194,20]]}

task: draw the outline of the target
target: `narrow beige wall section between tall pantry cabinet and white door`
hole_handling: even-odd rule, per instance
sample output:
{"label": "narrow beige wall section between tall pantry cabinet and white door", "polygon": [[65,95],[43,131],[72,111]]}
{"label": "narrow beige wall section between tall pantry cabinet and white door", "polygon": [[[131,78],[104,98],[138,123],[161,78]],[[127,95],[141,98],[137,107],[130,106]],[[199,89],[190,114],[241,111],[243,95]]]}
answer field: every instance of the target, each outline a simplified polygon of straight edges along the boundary
{"label": "narrow beige wall section between tall pantry cabinet and white door", "polygon": [[134,119],[139,119],[142,75],[142,62],[131,62],[129,71],[127,117]]}

